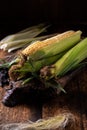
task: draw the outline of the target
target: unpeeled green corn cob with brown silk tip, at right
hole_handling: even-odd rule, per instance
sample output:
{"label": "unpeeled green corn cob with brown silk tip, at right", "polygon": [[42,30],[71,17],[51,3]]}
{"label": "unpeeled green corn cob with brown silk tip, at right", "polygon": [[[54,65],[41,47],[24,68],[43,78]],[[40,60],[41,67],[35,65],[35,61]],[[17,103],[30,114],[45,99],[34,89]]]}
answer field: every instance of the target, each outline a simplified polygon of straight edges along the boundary
{"label": "unpeeled green corn cob with brown silk tip, at right", "polygon": [[50,79],[64,76],[68,71],[75,69],[87,58],[87,38],[71,48],[55,64],[46,66],[41,70],[41,77]]}

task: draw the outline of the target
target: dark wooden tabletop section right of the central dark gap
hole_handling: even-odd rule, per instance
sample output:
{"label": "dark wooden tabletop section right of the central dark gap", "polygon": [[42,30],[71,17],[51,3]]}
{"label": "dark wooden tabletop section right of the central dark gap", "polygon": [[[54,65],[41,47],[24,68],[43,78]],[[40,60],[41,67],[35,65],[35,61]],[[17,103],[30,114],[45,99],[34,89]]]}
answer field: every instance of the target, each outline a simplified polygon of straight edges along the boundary
{"label": "dark wooden tabletop section right of the central dark gap", "polygon": [[67,94],[61,93],[43,106],[43,118],[69,112],[78,121],[75,130],[87,130],[87,69],[76,75],[65,89]]}

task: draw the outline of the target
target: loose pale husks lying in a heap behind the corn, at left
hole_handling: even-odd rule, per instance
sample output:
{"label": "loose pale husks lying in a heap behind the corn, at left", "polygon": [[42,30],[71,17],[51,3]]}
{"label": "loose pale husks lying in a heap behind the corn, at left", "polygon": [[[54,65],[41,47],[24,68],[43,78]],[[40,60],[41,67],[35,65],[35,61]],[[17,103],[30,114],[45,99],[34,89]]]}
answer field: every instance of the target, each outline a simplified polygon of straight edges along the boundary
{"label": "loose pale husks lying in a heap behind the corn, at left", "polygon": [[[0,49],[7,50],[8,52],[24,47],[26,44],[30,44],[32,41],[41,40],[46,36],[39,36],[40,33],[46,31],[48,26],[39,24],[37,26],[29,27],[16,34],[6,36],[0,41]],[[37,37],[37,38],[36,38]]]}

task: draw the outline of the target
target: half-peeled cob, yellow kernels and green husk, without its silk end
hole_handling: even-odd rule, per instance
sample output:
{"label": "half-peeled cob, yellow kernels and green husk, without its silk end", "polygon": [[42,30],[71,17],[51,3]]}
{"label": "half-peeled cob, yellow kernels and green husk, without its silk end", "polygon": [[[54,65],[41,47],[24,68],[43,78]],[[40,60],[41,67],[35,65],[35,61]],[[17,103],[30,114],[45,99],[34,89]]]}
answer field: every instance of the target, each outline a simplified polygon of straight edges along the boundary
{"label": "half-peeled cob, yellow kernels and green husk, without its silk end", "polygon": [[34,42],[25,48],[22,54],[29,56],[32,60],[59,54],[80,41],[81,33],[81,31],[67,31],[46,40]]}

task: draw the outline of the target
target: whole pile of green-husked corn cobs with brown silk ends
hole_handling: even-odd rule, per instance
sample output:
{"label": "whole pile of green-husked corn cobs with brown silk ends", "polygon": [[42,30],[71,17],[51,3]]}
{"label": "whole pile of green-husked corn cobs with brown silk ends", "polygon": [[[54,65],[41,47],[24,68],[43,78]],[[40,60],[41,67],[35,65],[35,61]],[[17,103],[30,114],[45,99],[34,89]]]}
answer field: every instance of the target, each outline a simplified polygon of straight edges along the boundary
{"label": "whole pile of green-husked corn cobs with brown silk ends", "polygon": [[51,83],[78,68],[87,58],[87,38],[82,39],[81,34],[80,30],[70,30],[33,42],[11,61],[10,80],[22,79],[25,83],[36,78]]}

